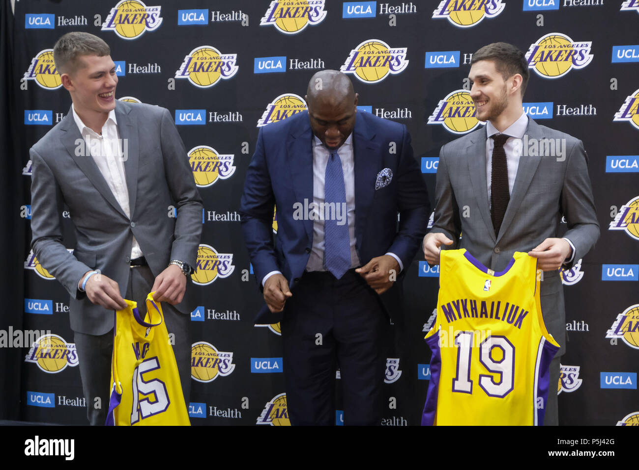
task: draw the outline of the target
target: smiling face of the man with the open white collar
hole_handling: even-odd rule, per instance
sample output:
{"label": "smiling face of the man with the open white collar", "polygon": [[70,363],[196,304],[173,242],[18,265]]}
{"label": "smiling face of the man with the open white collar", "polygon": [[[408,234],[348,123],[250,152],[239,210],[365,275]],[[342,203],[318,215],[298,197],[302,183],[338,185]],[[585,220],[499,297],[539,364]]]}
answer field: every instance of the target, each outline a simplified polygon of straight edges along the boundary
{"label": "smiling face of the man with the open white collar", "polygon": [[92,127],[89,123],[96,121],[104,124],[116,107],[116,65],[111,55],[82,55],[77,61],[77,69],[62,75],[63,85],[71,94],[75,112],[86,125]]}

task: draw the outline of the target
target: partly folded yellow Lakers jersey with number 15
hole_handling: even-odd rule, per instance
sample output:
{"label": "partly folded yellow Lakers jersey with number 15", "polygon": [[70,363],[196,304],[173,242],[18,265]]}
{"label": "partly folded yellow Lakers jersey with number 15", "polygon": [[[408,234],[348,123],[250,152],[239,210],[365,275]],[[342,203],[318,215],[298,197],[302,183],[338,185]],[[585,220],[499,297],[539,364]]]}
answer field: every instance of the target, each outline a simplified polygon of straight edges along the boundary
{"label": "partly folded yellow Lakers jersey with number 15", "polygon": [[116,312],[107,425],[190,425],[180,375],[162,315],[162,304],[146,297]]}

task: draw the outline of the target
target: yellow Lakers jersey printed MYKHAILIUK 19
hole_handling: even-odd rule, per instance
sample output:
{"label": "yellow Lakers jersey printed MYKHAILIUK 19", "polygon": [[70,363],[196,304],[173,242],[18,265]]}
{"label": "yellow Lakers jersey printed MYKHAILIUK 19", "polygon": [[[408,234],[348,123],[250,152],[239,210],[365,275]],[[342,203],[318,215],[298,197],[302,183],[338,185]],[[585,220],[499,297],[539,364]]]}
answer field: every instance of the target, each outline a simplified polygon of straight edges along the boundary
{"label": "yellow Lakers jersey printed MYKHAILIUK 19", "polygon": [[537,260],[502,272],[465,249],[442,250],[422,425],[542,425],[559,345],[541,316]]}

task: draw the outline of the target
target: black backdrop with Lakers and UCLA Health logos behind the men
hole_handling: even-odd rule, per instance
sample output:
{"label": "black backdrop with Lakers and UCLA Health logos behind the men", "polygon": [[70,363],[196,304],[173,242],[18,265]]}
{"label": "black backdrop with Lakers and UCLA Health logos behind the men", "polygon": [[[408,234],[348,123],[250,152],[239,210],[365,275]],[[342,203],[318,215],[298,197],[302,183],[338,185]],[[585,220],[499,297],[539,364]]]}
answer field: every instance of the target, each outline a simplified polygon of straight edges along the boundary
{"label": "black backdrop with Lakers and UCLA Health logos behind the men", "polygon": [[[183,122],[178,122],[178,130],[187,150],[211,147],[215,154],[225,157],[216,158],[206,149],[195,153],[204,155],[205,161],[212,164],[232,159],[235,166],[234,171],[227,168],[216,173],[210,170],[213,165],[197,166],[201,160],[192,160],[196,180],[200,184],[204,181],[200,187],[204,199],[201,243],[215,250],[213,259],[229,260],[232,256],[226,270],[204,272],[204,265],[200,265],[196,277],[201,283],[213,281],[196,287],[200,307],[192,313],[193,341],[207,342],[220,353],[232,353],[235,365],[232,370],[194,370],[197,376],[213,380],[193,381],[192,422],[211,425],[288,423],[285,397],[280,396],[284,381],[280,373],[278,325],[253,325],[261,296],[250,273],[236,214],[258,135],[256,124],[270,103],[281,95],[303,97],[314,71],[348,66],[351,52],[362,43],[369,43],[364,46],[368,50],[387,46],[394,56],[390,70],[383,66],[362,69],[365,79],[351,75],[353,84],[362,112],[385,115],[408,126],[434,205],[436,158],[441,145],[476,124],[473,110],[465,111],[472,104],[464,104],[468,99],[464,92],[468,89],[465,77],[470,54],[494,41],[508,41],[527,51],[550,35],[554,37],[546,43],[558,48],[572,41],[569,48],[583,54],[580,57],[584,59],[572,66],[562,61],[538,66],[548,76],[531,69],[525,96],[530,104],[526,109],[540,124],[583,140],[601,224],[596,248],[579,269],[565,276],[566,283],[573,284],[565,288],[569,344],[562,358],[564,373],[558,387],[560,423],[615,425],[633,415],[636,420],[639,332],[631,330],[636,328],[639,311],[627,318],[622,316],[622,325],[613,327],[622,312],[639,303],[639,216],[636,209],[624,212],[623,208],[636,207],[637,203],[631,201],[639,196],[639,115],[633,101],[639,88],[639,46],[634,45],[639,6],[635,0],[606,0],[605,4],[491,0],[486,10],[477,10],[477,2],[461,0],[291,0],[279,5],[253,0],[162,0],[146,5],[146,24],[139,24],[139,17],[129,17],[138,24],[126,24],[118,30],[102,29],[103,24],[117,22],[118,14],[144,7],[139,1],[121,3],[19,1],[13,24],[3,24],[3,39],[7,35],[13,39],[14,58],[4,59],[3,40],[2,78],[10,77],[4,89],[16,101],[3,106],[13,128],[3,126],[2,130],[5,135],[10,132],[16,137],[15,149],[5,147],[9,152],[3,191],[8,195],[11,215],[6,219],[9,223],[4,240],[8,254],[20,256],[20,260],[11,264],[17,275],[8,274],[13,284],[8,284],[9,308],[0,316],[0,327],[17,330],[24,323],[27,330],[50,330],[61,337],[59,341],[69,344],[67,348],[73,348],[66,312],[68,294],[38,270],[37,261],[29,253],[31,163],[26,149],[49,131],[70,106],[68,92],[56,88],[59,82],[44,52],[62,34],[87,31],[104,38],[111,46],[112,59],[123,72],[116,91],[118,98],[129,96],[168,108],[176,120]],[[8,0],[3,2],[3,18],[6,4]],[[120,10],[110,18],[116,4]],[[296,6],[309,6],[311,16],[286,18],[278,24],[269,22],[269,18],[277,17],[278,8],[291,7],[288,11],[293,17],[295,11],[308,11],[295,10]],[[615,60],[617,46],[621,47],[619,60]],[[196,49],[200,49],[196,61],[215,55],[210,48],[217,50],[227,64],[221,77],[204,69],[193,74],[191,80],[176,78],[188,60],[185,57]],[[592,54],[589,62],[588,54]],[[33,59],[38,59],[35,68]],[[279,65],[283,67],[273,69]],[[401,70],[394,73],[393,69]],[[562,72],[561,77],[553,77]],[[449,95],[454,97],[449,105],[440,103]],[[8,98],[3,99],[6,103]],[[270,115],[283,117],[299,109],[295,107],[295,96],[280,101],[284,104]],[[443,108],[443,114],[438,113],[436,110],[442,111],[440,105],[453,109]],[[452,115],[446,122],[429,123],[438,114],[447,113]],[[455,118],[456,115],[461,117]],[[617,212],[624,217],[614,223]],[[66,247],[72,248],[68,214],[60,216],[65,221]],[[609,230],[611,223],[624,230]],[[208,247],[203,247],[203,253],[212,253]],[[383,420],[388,425],[419,424],[426,396],[429,349],[422,338],[435,308],[438,279],[436,268],[425,269],[418,258],[406,267],[403,321],[389,327],[393,346],[387,371],[389,383],[385,386],[389,406]],[[610,280],[604,281],[608,272]],[[20,274],[24,276],[24,290]],[[24,296],[20,297],[16,293],[21,291]],[[628,320],[632,322],[629,325]],[[615,335],[615,329],[630,331]],[[25,421],[85,423],[78,368],[64,361],[26,361],[31,357],[29,353],[37,354],[31,344],[26,346],[20,356],[14,349],[4,349],[0,355],[0,364],[7,364],[6,390],[0,399],[4,410],[13,413],[4,416],[15,417],[19,413]],[[336,422],[340,422],[339,412]]]}

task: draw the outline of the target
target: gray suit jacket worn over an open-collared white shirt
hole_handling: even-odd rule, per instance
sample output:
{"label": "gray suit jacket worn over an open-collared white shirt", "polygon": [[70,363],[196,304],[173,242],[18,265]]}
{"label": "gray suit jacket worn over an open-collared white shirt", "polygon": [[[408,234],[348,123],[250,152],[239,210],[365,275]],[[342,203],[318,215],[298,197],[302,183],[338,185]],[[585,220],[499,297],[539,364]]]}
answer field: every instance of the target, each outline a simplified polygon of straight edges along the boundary
{"label": "gray suit jacket worn over an open-collared white shirt", "polygon": [[[100,335],[113,328],[112,311],[92,304],[78,290],[85,272],[99,269],[127,290],[132,240],[139,243],[153,275],[170,260],[196,266],[202,231],[202,201],[187,152],[171,114],[158,106],[116,101],[121,139],[127,139],[125,177],[131,217],[119,206],[98,166],[77,143],[82,135],[69,110],[65,119],[31,148],[31,247],[42,266],[69,291],[71,328]],[[84,153],[84,155],[82,155]],[[76,244],[63,244],[61,213],[67,205]],[[171,217],[176,207],[178,217]],[[190,279],[176,308],[188,313]]]}

